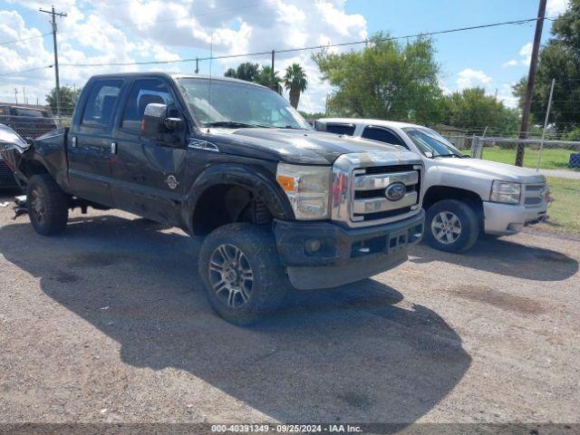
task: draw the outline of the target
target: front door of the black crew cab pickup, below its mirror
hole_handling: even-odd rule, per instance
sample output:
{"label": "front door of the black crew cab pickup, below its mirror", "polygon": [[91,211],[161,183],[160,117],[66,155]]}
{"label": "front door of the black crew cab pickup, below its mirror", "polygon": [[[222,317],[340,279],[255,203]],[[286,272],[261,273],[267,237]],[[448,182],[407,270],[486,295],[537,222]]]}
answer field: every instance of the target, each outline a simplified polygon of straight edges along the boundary
{"label": "front door of the black crew cab pickup, below its mirror", "polygon": [[150,103],[166,104],[171,116],[181,118],[169,82],[159,77],[132,82],[123,102],[113,137],[111,191],[116,208],[175,225],[183,197],[187,147],[180,140],[150,140],[141,136],[141,121]]}

